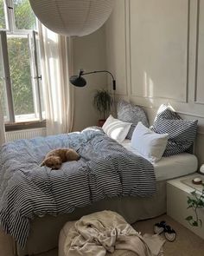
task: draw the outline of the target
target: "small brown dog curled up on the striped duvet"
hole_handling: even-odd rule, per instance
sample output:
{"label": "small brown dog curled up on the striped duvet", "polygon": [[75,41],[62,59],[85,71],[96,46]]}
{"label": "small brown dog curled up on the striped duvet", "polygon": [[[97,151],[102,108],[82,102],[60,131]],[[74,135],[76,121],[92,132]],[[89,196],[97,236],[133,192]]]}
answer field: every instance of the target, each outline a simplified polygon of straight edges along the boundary
{"label": "small brown dog curled up on the striped duvet", "polygon": [[59,169],[65,161],[78,161],[80,154],[78,154],[72,148],[57,148],[46,154],[42,166],[47,166],[52,169]]}

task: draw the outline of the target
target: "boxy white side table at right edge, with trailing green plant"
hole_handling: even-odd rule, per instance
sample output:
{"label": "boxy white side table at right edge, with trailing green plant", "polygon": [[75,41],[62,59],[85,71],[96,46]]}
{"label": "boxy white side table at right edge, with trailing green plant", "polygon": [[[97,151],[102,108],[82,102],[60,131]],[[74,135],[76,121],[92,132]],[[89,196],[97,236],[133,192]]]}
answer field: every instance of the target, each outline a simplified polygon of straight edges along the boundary
{"label": "boxy white side table at right edge, with trailing green plant", "polygon": [[[190,182],[195,177],[201,177],[202,181],[204,181],[204,175],[190,174],[167,182],[167,214],[204,239],[204,209],[198,210],[199,217],[202,221],[201,227],[190,226],[188,221],[185,220],[189,215],[194,216],[194,211],[191,208],[187,209],[187,200],[188,196],[192,197],[190,193],[196,187],[196,185]],[[187,179],[189,179],[188,185],[183,183]]]}

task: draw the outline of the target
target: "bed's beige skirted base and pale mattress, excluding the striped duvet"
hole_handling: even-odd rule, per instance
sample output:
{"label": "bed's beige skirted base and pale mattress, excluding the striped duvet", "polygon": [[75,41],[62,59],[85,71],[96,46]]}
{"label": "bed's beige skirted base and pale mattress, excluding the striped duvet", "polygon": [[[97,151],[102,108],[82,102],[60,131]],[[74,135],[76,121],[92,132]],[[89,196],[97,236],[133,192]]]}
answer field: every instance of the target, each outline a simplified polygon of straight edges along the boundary
{"label": "bed's beige skirted base and pale mattress, excluding the striped duvet", "polygon": [[129,223],[154,218],[166,213],[166,181],[194,173],[196,170],[197,158],[194,154],[183,153],[169,158],[163,157],[156,164],[156,194],[152,197],[107,198],[95,202],[90,207],[78,208],[74,213],[63,214],[56,218],[46,216],[32,220],[26,249],[22,250],[20,246],[17,246],[18,255],[32,255],[54,249],[58,245],[58,236],[62,226],[67,221],[79,220],[81,216],[88,213],[110,209],[122,214]]}

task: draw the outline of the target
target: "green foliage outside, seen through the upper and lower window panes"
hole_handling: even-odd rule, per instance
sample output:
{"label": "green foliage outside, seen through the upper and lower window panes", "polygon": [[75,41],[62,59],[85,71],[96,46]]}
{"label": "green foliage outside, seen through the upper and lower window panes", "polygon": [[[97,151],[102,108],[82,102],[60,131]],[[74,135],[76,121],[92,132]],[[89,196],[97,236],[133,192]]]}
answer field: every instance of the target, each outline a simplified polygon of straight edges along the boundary
{"label": "green foliage outside, seen through the upper and lower window panes", "polygon": [[[0,29],[3,27],[2,3],[3,0],[0,0]],[[14,0],[13,3],[16,30],[35,29],[35,16],[30,8],[29,0]],[[27,37],[8,36],[7,43],[15,115],[34,113],[29,40]],[[0,79],[0,95],[3,94],[1,87],[3,87],[3,82]]]}

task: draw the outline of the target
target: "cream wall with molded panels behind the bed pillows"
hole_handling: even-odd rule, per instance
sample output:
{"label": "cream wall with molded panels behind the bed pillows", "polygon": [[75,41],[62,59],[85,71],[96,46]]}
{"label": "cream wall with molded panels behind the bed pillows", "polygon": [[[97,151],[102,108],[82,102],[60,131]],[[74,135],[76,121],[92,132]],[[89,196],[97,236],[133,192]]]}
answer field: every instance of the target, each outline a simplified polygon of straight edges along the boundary
{"label": "cream wall with molded panels behind the bed pillows", "polygon": [[165,102],[199,119],[195,152],[204,162],[204,1],[117,0],[106,45],[118,98],[142,106],[150,121]]}

